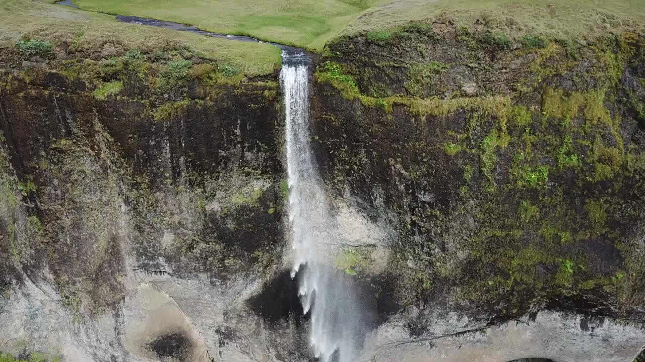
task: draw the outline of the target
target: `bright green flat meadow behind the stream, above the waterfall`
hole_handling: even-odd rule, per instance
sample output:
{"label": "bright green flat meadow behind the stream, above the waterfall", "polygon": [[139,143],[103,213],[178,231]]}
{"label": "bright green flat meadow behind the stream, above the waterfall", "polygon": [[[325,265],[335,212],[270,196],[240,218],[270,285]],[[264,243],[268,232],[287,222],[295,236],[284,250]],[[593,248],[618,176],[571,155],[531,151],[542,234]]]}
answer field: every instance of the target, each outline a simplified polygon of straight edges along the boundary
{"label": "bright green flat meadow behind the stream, above the waterfall", "polygon": [[384,0],[75,0],[84,10],[195,25],[210,32],[322,50],[361,12]]}

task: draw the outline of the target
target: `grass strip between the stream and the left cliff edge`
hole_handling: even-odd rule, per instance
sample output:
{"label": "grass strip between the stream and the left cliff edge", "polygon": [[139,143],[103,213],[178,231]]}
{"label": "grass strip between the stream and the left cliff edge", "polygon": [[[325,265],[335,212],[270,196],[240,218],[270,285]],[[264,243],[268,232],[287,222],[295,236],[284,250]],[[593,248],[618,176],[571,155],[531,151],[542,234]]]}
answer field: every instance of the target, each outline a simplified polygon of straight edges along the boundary
{"label": "grass strip between the stream and the left cliff edge", "polygon": [[96,14],[37,0],[0,0],[0,47],[11,48],[31,37],[56,45],[72,44],[78,51],[101,50],[105,43],[154,52],[188,46],[198,55],[230,64],[246,75],[272,73],[281,64],[275,46],[215,39],[152,26],[124,24],[111,15]]}

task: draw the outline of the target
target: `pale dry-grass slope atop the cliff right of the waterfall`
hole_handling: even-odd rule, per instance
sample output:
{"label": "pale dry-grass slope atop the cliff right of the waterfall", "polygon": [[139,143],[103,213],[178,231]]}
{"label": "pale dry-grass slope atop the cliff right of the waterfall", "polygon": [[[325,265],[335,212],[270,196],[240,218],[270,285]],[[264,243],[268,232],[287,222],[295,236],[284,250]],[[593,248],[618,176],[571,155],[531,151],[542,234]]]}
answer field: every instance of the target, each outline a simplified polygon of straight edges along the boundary
{"label": "pale dry-grass slope atop the cliff right of the waterfall", "polygon": [[374,6],[343,31],[346,35],[392,28],[410,21],[450,19],[513,38],[526,34],[579,41],[645,30],[643,0],[393,0]]}

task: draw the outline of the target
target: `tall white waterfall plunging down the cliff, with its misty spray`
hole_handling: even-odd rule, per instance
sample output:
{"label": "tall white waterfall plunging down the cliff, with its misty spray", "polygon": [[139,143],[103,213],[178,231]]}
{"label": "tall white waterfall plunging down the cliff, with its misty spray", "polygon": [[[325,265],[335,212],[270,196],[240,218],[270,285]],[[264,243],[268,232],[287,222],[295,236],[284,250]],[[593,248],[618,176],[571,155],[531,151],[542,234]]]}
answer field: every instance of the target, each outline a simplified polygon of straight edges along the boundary
{"label": "tall white waterfall plunging down the cliff, with its misty spray", "polygon": [[321,362],[355,361],[371,329],[373,303],[361,298],[355,277],[337,271],[330,251],[342,244],[321,183],[309,139],[308,59],[283,50],[281,82],[286,108],[289,219],[295,263],[292,278],[304,313],[310,314],[310,345]]}

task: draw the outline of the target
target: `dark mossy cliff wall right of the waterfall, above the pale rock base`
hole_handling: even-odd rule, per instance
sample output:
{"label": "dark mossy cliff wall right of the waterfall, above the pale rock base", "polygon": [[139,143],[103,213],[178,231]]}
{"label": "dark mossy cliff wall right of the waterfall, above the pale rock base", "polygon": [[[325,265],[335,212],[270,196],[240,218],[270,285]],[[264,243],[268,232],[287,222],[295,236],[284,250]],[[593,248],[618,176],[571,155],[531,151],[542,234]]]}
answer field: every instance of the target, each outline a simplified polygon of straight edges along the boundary
{"label": "dark mossy cliff wall right of the waterfall, above the pale rock base", "polygon": [[437,308],[643,320],[645,40],[533,40],[412,24],[317,68],[324,178],[395,225],[379,278],[413,334]]}

